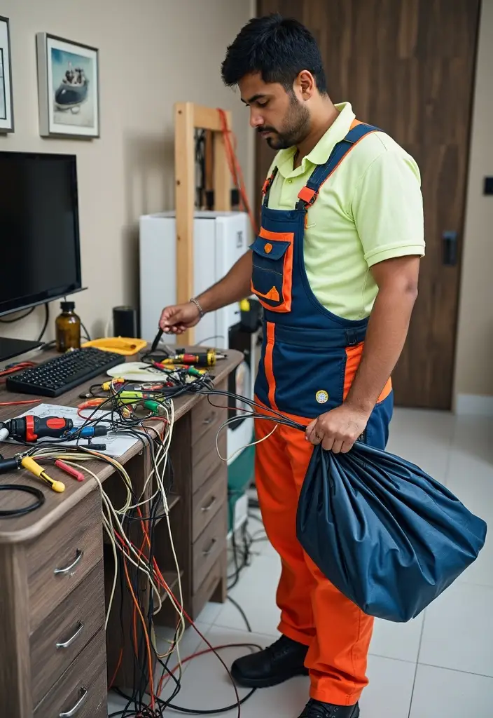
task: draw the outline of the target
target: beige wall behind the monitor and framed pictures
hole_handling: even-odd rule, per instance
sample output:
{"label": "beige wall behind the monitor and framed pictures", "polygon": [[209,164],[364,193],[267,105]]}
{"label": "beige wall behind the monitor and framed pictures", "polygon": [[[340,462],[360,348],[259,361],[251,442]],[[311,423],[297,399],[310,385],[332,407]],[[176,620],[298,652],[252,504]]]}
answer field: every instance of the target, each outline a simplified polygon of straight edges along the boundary
{"label": "beige wall behind the monitor and framed pictures", "polygon": [[[90,332],[116,304],[138,300],[138,218],[173,208],[173,103],[233,111],[238,154],[253,186],[254,138],[239,98],[221,83],[226,45],[254,14],[252,0],[2,0],[10,19],[16,131],[0,151],[77,154],[82,279],[75,297]],[[100,50],[101,139],[41,139],[35,35],[49,32]],[[59,312],[51,307],[52,320]],[[4,336],[35,338],[43,309]],[[157,321],[157,318],[156,318]],[[50,322],[48,338],[53,336]]]}

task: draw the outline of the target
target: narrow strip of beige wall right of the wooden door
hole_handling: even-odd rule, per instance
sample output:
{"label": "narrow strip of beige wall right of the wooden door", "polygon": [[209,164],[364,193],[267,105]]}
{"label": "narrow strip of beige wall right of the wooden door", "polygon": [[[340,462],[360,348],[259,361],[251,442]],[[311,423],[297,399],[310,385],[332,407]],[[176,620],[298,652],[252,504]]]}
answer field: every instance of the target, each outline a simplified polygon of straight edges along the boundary
{"label": "narrow strip of beige wall right of the wooden door", "polygon": [[493,396],[493,197],[482,194],[493,176],[493,0],[483,0],[469,159],[456,394]]}

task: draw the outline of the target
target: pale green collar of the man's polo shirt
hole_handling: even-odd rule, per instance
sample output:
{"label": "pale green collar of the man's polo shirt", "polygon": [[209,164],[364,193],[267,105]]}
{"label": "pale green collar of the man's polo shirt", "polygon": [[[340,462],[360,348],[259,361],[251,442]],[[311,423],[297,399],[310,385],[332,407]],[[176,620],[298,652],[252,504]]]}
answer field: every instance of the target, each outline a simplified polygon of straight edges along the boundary
{"label": "pale green collar of the man's polo shirt", "polygon": [[335,122],[332,123],[312,151],[309,152],[306,157],[303,157],[300,167],[293,169],[293,157],[295,157],[296,154],[296,147],[289,147],[288,149],[279,151],[275,164],[283,177],[297,177],[303,174],[303,172],[306,172],[309,162],[312,165],[325,164],[325,162],[327,162],[332,149],[334,149],[338,142],[345,138],[355,119],[355,113],[350,103],[340,103],[335,105],[335,109],[339,112]]}

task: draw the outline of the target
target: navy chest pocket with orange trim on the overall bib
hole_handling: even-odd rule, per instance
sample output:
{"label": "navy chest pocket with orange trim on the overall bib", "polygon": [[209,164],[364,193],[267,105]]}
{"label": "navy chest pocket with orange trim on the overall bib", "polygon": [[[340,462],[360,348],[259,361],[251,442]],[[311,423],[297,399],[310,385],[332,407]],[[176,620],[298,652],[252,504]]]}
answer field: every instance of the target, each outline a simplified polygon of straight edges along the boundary
{"label": "navy chest pocket with orange trim on the overall bib", "polygon": [[291,311],[293,239],[292,233],[261,230],[251,246],[252,292],[272,312]]}

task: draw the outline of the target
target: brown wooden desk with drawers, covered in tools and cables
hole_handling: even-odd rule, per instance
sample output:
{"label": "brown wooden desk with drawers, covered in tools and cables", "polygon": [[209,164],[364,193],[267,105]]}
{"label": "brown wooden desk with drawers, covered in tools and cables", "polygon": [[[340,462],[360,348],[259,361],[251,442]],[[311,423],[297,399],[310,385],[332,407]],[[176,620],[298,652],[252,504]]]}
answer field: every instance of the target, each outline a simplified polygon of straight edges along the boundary
{"label": "brown wooden desk with drawers, covered in tools and cables", "polygon": [[[229,351],[226,360],[216,365],[216,388],[226,388],[229,374],[241,360],[241,353]],[[76,406],[82,401],[79,394],[92,383],[97,380],[43,401]],[[17,396],[0,389],[0,401],[15,401]],[[226,406],[226,398],[218,396],[214,403]],[[0,421],[28,408],[0,407]],[[226,597],[227,468],[215,448],[216,432],[226,411],[214,409],[204,396],[189,394],[176,400],[175,415],[170,518],[183,572],[184,607],[194,619],[208,600],[224,601]],[[226,432],[221,433],[224,455]],[[1,444],[4,457],[18,450]],[[148,452],[137,443],[119,461],[125,465],[135,493],[140,494],[150,468]],[[115,505],[122,505],[118,498],[121,480],[113,475],[112,467],[97,461],[89,466],[105,482],[105,492]],[[80,701],[80,709],[74,713],[77,718],[105,718],[107,673],[113,678],[122,648],[123,660],[113,685],[132,685],[133,656],[130,641],[123,641],[120,622],[120,608],[121,615],[128,617],[130,607],[125,595],[123,607],[118,602],[113,605],[105,636],[106,552],[97,482],[88,476],[77,482],[51,466],[49,473],[64,481],[64,493],[44,488],[24,470],[0,476],[2,484],[41,488],[46,498],[42,508],[27,516],[0,518],[1,714],[53,718],[69,714]],[[0,494],[6,508],[27,505],[32,498],[27,496],[23,504],[20,494]],[[155,546],[158,565],[174,587],[177,574],[173,572],[166,521],[155,528]],[[113,552],[109,554],[113,560]],[[113,579],[110,565],[107,577],[108,587]],[[163,610],[156,620],[171,623],[172,612]],[[126,620],[124,623],[126,626]]]}

